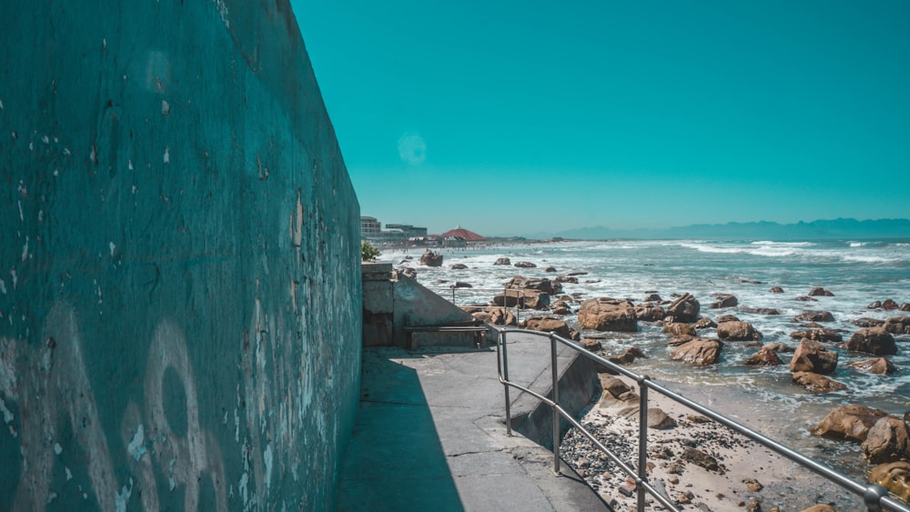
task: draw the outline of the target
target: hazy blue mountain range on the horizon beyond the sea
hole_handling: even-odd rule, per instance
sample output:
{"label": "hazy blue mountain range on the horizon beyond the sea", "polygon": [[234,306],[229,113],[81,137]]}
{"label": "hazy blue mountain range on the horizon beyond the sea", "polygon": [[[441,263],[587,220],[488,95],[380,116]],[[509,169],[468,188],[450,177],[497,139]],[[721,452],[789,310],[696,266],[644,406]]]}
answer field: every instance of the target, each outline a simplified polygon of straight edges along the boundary
{"label": "hazy blue mountain range on the horizon beyond the sea", "polygon": [[808,239],[868,239],[910,238],[910,219],[886,218],[856,220],[837,218],[795,224],[776,222],[730,222],[727,224],[696,224],[663,229],[611,229],[603,226],[570,229],[541,238],[570,238],[581,240],[632,239],[711,239],[711,240],[808,240]]}

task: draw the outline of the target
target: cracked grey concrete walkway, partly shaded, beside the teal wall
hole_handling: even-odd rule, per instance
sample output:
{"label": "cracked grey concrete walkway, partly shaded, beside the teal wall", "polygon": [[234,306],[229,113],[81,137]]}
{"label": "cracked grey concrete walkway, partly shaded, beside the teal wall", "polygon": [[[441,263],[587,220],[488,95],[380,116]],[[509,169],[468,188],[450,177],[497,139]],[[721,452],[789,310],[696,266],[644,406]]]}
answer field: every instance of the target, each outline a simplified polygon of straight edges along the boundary
{"label": "cracked grey concrete walkway, partly shaded, beside the teal wall", "polygon": [[[513,381],[549,389],[545,338],[511,335],[509,361]],[[609,510],[565,464],[553,473],[551,451],[506,435],[494,348],[366,348],[361,387],[338,510]]]}

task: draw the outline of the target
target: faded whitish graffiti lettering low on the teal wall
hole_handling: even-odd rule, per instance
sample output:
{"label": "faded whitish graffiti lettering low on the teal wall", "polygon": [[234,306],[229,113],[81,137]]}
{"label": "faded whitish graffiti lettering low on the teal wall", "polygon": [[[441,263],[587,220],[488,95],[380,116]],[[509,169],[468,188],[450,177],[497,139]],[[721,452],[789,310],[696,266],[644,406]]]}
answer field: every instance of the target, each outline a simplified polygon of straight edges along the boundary
{"label": "faded whitish graffiti lettering low on the teal wall", "polygon": [[[22,461],[13,508],[44,510],[57,497],[52,488],[57,457],[65,451],[58,437],[68,421],[74,442],[88,458],[85,467],[90,486],[79,488],[83,499],[94,496],[102,510],[125,510],[136,486],[145,510],[157,510],[156,468],[167,477],[169,488],[185,487],[184,508],[199,507],[200,483],[209,478],[217,509],[227,507],[225,468],[215,437],[200,427],[196,380],[183,331],[161,321],[151,341],[143,416],[134,401],[121,421],[123,449],[129,465],[126,482],[118,481],[108,451],[108,439],[98,417],[99,405],[89,382],[82,355],[76,313],[66,305],[55,306],[45,318],[44,343],[34,348],[0,337],[0,415],[10,435],[19,440]],[[165,414],[165,373],[174,370],[186,396],[187,432],[178,436]],[[18,407],[18,425],[12,404]],[[236,413],[235,413],[236,414]],[[61,458],[63,460],[64,458]],[[64,467],[66,482],[73,478]],[[122,473],[122,472],[121,472]],[[136,478],[136,480],[134,480]],[[247,500],[244,503],[248,505]]]}

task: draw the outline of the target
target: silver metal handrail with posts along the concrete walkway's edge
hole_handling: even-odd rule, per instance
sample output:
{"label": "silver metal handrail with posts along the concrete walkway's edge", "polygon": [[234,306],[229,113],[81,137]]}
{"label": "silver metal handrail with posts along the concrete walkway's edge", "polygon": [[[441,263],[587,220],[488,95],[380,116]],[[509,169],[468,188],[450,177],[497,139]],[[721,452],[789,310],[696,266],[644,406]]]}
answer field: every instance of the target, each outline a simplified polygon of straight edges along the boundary
{"label": "silver metal handrail with posts along the concrete walkway's edge", "polygon": [[[528,329],[520,329],[514,327],[501,327],[501,326],[492,326],[498,333],[496,341],[496,364],[497,364],[497,374],[499,376],[500,383],[502,384],[503,390],[505,392],[505,408],[506,408],[506,431],[511,436],[511,404],[509,398],[509,388],[515,387],[525,393],[528,393],[532,397],[536,397],[541,400],[544,404],[551,407],[553,411],[553,472],[560,474],[560,417],[565,418],[572,427],[575,427],[581,432],[584,437],[587,437],[591,440],[591,443],[594,444],[599,450],[601,450],[607,457],[612,460],[616,466],[620,467],[622,471],[632,477],[635,480],[635,487],[638,492],[637,496],[637,509],[639,511],[644,510],[645,506],[645,495],[650,494],[654,499],[661,502],[664,507],[668,507],[671,510],[679,510],[673,506],[672,502],[668,497],[663,496],[655,487],[652,487],[651,483],[648,482],[647,477],[647,464],[648,464],[648,389],[653,389],[657,391],[664,397],[668,397],[673,401],[681,404],[684,407],[688,407],[693,411],[703,414],[706,417],[710,417],[714,421],[722,424],[725,427],[733,429],[733,431],[742,434],[745,437],[752,439],[753,441],[759,443],[763,447],[769,448],[774,452],[789,458],[795,463],[799,464],[802,467],[810,469],[821,475],[822,477],[827,478],[828,480],[834,482],[840,487],[854,493],[855,495],[861,496],[864,499],[864,503],[869,510],[897,510],[901,512],[910,512],[910,507],[907,507],[905,504],[895,500],[894,497],[891,497],[888,494],[887,489],[882,486],[877,485],[863,485],[853,478],[847,477],[842,473],[835,471],[834,469],[824,466],[823,464],[814,461],[809,457],[805,457],[803,454],[785,447],[784,445],[774,441],[770,437],[765,437],[758,432],[755,432],[749,427],[745,427],[742,424],[739,424],[729,417],[723,416],[721,413],[714,411],[708,407],[704,407],[701,404],[693,402],[689,398],[683,397],[682,395],[675,393],[666,387],[653,382],[650,376],[642,376],[632,372],[631,370],[612,363],[602,356],[591,353],[591,351],[585,349],[584,347],[573,343],[571,340],[568,340],[564,337],[558,336],[556,333],[546,333],[541,331],[531,331]],[[527,387],[522,387],[516,383],[513,383],[509,380],[509,352],[508,345],[506,343],[506,335],[508,333],[525,333],[535,336],[546,336],[550,339],[550,351],[551,351],[551,367],[552,367],[552,398],[543,397],[540,393],[531,391]],[[639,447],[638,447],[638,468],[632,468],[628,464],[624,463],[619,457],[610,451],[609,448],[604,446],[602,442],[597,440],[591,432],[586,428],[581,426],[574,417],[560,406],[559,400],[559,375],[558,369],[556,366],[556,347],[557,343],[561,343],[564,346],[569,346],[582,356],[588,357],[594,362],[601,364],[602,366],[608,367],[611,371],[614,371],[623,376],[632,378],[635,382],[638,383],[640,393],[639,393]]]}

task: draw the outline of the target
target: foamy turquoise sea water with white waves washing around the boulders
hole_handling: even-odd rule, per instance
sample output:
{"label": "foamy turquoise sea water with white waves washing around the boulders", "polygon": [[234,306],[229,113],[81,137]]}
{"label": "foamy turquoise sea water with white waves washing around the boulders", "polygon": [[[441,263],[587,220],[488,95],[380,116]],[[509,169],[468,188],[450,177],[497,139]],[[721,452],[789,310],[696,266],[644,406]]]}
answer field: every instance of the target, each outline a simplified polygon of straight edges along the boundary
{"label": "foamy turquoise sea water with white waves washing around the boulders", "polygon": [[[910,240],[561,242],[441,251],[445,260],[436,268],[418,264],[423,249],[417,248],[384,250],[379,259],[415,268],[421,284],[450,298],[450,286],[456,281],[470,284],[472,288],[456,292],[460,306],[490,302],[512,276],[552,279],[586,272],[577,276],[579,284],[563,284],[563,292],[577,296],[579,301],[611,296],[638,303],[651,293],[672,300],[674,294],[688,292],[701,303],[702,316],[738,316],[763,334],[763,343],[794,347],[798,340],[790,333],[801,330],[801,325],[793,318],[804,310],[831,312],[834,322],[823,326],[840,330],[844,342],[859,329],[851,323],[858,318],[910,316],[910,312],[867,307],[887,298],[898,304],[910,303]],[[409,256],[411,259],[406,259]],[[509,257],[512,264],[527,261],[537,267],[494,266],[499,257]],[[451,269],[457,263],[467,268]],[[557,272],[545,272],[547,266]],[[782,287],[784,293],[771,293],[772,286]],[[816,286],[834,296],[814,297],[816,302],[795,300]],[[739,305],[709,309],[715,293],[733,294]],[[743,307],[776,308],[782,315],[747,313]],[[526,310],[522,316],[532,313]],[[566,320],[578,327],[574,316]],[[703,330],[700,336],[715,337],[716,333]],[[844,404],[878,407],[901,417],[910,411],[910,336],[895,336],[898,354],[889,359],[901,369],[892,376],[854,370],[849,363],[872,356],[828,346],[839,353],[837,370],[831,377],[847,385],[845,391],[828,394],[810,393],[792,384],[788,354],[781,354],[781,366],[744,366],[743,361],[757,347],[727,342],[718,364],[691,366],[670,360],[668,338],[661,326],[639,322],[637,333],[608,333],[602,339],[603,353],[620,354],[636,346],[648,357],[635,361],[630,366],[634,371],[652,376],[662,385],[857,479],[864,477],[866,468],[858,445],[814,437],[809,428]]]}

